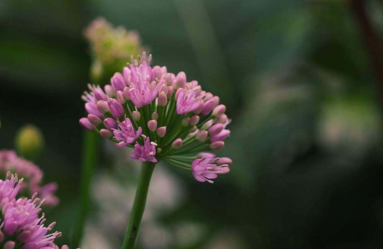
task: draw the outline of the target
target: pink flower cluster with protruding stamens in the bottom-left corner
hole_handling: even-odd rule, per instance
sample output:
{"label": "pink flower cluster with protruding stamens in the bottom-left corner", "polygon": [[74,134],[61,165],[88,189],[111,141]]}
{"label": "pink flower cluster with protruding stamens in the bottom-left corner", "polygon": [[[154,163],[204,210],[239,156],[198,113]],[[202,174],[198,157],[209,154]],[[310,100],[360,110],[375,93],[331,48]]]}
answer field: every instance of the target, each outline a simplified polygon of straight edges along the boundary
{"label": "pink flower cluster with protruding stamens in the bottom-left corner", "polygon": [[[0,180],[0,207],[2,208],[2,225],[0,226],[0,242],[3,248],[13,249],[57,249],[54,239],[61,236],[56,231],[49,233],[56,225],[44,225],[46,219],[41,213],[41,205],[45,200],[37,198],[35,193],[31,199],[17,198],[23,178],[8,171],[5,180]],[[63,246],[62,249],[68,249]]]}

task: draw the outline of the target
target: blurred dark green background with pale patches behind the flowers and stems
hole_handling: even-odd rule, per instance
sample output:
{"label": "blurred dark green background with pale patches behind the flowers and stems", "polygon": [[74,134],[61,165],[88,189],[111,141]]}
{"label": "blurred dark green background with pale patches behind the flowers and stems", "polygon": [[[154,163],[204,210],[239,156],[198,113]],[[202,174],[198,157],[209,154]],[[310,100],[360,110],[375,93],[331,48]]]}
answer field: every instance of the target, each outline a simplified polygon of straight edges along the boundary
{"label": "blurred dark green background with pale patches behind the flowers and stems", "polygon": [[[139,248],[381,248],[383,82],[370,56],[381,1],[3,0],[0,148],[22,125],[44,133],[59,244],[79,199],[83,29],[98,16],[136,30],[154,64],[198,80],[233,120],[219,155],[234,163],[214,185],[155,169]],[[128,155],[102,143],[83,249],[120,246],[137,178]]]}

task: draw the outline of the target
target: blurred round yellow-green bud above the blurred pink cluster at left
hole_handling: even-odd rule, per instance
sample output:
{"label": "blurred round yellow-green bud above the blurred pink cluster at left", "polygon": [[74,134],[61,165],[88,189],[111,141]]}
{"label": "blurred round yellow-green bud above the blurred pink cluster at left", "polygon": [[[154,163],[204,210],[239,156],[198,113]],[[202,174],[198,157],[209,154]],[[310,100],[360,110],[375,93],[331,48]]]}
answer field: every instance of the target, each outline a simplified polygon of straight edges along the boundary
{"label": "blurred round yellow-green bud above the blurred pink cluster at left", "polygon": [[34,125],[23,126],[16,134],[15,147],[20,156],[37,159],[44,148],[43,133]]}

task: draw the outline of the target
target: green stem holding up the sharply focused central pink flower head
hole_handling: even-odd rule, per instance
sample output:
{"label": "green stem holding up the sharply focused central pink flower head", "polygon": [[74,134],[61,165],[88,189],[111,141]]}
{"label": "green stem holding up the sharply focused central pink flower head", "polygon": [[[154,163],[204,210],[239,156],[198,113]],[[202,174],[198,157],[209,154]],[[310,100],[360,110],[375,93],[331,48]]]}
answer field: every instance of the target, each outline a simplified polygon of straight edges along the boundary
{"label": "green stem holding up the sharply focused central pink flower head", "polygon": [[141,224],[142,215],[144,214],[147,190],[149,189],[150,179],[154,170],[155,163],[142,162],[139,179],[137,183],[136,196],[134,197],[133,208],[130,214],[130,221],[124,242],[121,249],[134,249]]}

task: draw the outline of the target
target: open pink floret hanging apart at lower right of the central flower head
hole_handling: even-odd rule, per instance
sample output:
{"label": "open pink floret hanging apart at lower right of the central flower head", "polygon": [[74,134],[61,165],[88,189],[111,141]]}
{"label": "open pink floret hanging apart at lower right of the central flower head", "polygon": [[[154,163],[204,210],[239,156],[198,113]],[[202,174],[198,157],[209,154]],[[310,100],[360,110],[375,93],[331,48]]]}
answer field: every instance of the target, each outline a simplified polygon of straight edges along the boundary
{"label": "open pink floret hanging apart at lower right of the central flower head", "polygon": [[203,158],[198,158],[191,163],[191,171],[194,178],[199,182],[213,183],[210,179],[217,178],[219,174],[226,174],[230,171],[227,164],[219,165],[214,164],[214,161],[219,158],[215,158],[212,155],[208,155]]}

